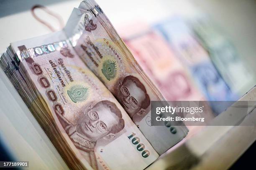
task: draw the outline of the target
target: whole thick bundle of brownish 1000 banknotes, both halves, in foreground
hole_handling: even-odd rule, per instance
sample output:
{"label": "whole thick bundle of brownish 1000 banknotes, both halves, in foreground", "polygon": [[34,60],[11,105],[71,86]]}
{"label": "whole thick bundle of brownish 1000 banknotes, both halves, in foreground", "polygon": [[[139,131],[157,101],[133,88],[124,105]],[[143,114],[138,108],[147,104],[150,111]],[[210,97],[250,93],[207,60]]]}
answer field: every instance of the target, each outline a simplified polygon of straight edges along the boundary
{"label": "whole thick bundle of brownish 1000 banknotes, both halves, in foreground", "polygon": [[63,31],[11,43],[0,65],[71,169],[142,170],[187,135],[151,126],[164,97],[93,0]]}

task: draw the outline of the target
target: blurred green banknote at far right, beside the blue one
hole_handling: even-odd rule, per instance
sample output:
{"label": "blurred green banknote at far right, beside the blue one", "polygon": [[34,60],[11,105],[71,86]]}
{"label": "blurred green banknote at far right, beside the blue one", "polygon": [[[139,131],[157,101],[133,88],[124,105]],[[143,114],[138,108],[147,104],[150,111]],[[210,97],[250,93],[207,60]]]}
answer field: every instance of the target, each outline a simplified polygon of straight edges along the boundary
{"label": "blurred green banknote at far right, beside the blue one", "polygon": [[239,57],[233,44],[210,20],[198,18],[190,23],[230,90],[240,97],[244,95],[256,84],[256,76]]}

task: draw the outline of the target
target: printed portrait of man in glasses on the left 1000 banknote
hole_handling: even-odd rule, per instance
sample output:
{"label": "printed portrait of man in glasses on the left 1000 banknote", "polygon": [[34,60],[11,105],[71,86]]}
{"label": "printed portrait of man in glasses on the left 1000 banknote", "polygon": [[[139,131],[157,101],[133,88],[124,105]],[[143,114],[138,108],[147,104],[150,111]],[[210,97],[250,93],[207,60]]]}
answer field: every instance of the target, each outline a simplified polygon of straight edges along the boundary
{"label": "printed portrait of man in glasses on the left 1000 banknote", "polygon": [[81,111],[83,113],[76,124],[70,122],[64,115],[58,113],[56,115],[79,152],[92,168],[97,169],[94,153],[97,140],[115,138],[115,134],[123,130],[125,123],[121,111],[109,100],[102,100],[95,105],[90,103]]}

